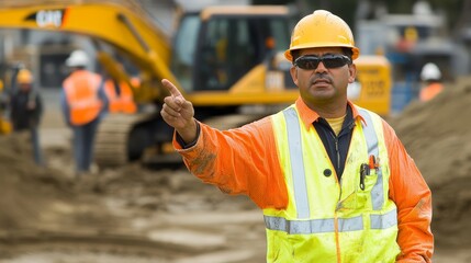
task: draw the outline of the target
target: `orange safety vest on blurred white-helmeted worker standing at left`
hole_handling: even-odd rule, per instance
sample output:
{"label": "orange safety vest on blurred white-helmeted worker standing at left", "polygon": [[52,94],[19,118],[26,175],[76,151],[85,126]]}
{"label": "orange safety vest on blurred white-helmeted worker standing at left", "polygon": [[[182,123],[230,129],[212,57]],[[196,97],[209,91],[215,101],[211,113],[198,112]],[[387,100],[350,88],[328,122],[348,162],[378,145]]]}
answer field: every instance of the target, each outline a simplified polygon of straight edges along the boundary
{"label": "orange safety vest on blurred white-helmeted worker standing at left", "polygon": [[101,77],[87,70],[75,71],[64,81],[72,125],[90,123],[100,114],[103,104],[98,95]]}

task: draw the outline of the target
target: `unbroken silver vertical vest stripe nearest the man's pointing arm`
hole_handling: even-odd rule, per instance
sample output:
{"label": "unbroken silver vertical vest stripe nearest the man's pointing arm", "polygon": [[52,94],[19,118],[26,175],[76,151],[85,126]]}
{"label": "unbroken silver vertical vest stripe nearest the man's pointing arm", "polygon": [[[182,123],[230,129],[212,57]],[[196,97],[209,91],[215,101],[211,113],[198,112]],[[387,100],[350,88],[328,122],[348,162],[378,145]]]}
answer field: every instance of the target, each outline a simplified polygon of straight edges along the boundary
{"label": "unbroken silver vertical vest stripe nearest the man's pointing arm", "polygon": [[296,203],[298,218],[310,217],[307,201],[307,186],[304,171],[303,148],[301,142],[300,121],[293,107],[283,111],[288,127],[288,145],[291,155],[291,170],[293,174],[294,199]]}

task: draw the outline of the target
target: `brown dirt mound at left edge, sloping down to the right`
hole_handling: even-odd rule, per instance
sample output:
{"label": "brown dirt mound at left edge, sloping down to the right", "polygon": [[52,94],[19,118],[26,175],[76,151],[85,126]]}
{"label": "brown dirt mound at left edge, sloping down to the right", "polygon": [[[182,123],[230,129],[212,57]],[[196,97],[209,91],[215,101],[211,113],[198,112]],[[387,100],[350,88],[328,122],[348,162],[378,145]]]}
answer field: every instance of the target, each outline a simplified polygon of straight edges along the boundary
{"label": "brown dirt mound at left edge, sloping down to the right", "polygon": [[114,226],[92,187],[34,163],[27,134],[2,136],[0,145],[0,236]]}

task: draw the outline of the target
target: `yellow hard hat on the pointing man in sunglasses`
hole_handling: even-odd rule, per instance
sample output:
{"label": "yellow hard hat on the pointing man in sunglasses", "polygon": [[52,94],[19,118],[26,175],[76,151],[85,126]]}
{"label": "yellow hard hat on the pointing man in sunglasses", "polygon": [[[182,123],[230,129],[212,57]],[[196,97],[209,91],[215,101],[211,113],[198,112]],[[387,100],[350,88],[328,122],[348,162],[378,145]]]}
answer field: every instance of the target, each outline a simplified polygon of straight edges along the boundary
{"label": "yellow hard hat on the pointing man in sunglasses", "polygon": [[348,24],[325,10],[316,10],[298,22],[291,35],[290,48],[284,52],[284,57],[293,61],[291,50],[312,47],[348,47],[354,53],[352,59],[360,55],[360,49],[355,46],[354,34]]}

